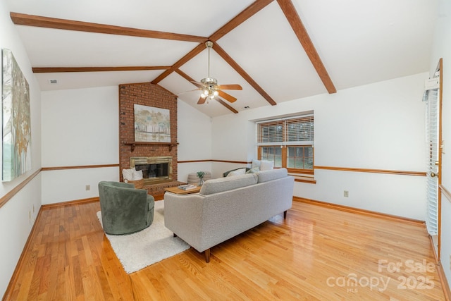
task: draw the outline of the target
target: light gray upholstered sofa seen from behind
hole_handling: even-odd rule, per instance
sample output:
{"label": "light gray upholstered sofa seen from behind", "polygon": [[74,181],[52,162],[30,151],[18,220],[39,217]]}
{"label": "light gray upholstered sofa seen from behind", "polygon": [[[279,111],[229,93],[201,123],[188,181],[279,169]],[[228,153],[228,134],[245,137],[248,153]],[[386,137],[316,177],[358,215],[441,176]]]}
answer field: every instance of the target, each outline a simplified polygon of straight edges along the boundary
{"label": "light gray upholstered sofa seen from behind", "polygon": [[210,260],[210,248],[284,213],[294,178],[285,168],[208,180],[199,193],[164,195],[164,224]]}

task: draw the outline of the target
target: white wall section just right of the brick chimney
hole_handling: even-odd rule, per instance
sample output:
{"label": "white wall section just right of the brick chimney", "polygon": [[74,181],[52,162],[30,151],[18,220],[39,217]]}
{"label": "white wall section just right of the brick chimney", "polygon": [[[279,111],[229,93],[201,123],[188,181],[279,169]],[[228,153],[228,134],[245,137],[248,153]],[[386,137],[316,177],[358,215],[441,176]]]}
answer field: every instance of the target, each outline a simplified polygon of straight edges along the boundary
{"label": "white wall section just right of the brick chimney", "polygon": [[[180,100],[177,106],[178,161],[211,159],[211,118]],[[197,171],[211,171],[211,161],[178,164],[178,180]]]}

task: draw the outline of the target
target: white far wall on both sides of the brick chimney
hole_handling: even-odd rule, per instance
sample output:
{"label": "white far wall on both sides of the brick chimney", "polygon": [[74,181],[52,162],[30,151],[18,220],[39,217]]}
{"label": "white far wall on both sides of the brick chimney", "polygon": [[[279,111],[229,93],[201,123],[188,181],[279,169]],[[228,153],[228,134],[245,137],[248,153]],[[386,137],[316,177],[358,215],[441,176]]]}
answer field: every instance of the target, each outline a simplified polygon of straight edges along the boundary
{"label": "white far wall on both sides of the brick chimney", "polygon": [[[42,92],[42,166],[118,164],[118,87]],[[211,118],[178,102],[178,161],[211,159]],[[211,162],[178,164],[178,180],[211,171]],[[42,171],[42,203],[99,196],[100,180],[118,180],[118,168]],[[86,191],[86,185],[91,190]]]}

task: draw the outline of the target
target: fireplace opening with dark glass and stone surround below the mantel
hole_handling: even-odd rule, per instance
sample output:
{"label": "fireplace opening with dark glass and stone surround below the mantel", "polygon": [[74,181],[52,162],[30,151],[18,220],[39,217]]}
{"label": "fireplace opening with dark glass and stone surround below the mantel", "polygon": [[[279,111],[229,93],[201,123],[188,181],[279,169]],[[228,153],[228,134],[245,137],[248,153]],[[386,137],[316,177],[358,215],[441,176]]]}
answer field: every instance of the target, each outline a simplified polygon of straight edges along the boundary
{"label": "fireplace opening with dark glass and stone surround below the mantel", "polygon": [[132,156],[130,168],[142,171],[144,185],[172,181],[172,156]]}

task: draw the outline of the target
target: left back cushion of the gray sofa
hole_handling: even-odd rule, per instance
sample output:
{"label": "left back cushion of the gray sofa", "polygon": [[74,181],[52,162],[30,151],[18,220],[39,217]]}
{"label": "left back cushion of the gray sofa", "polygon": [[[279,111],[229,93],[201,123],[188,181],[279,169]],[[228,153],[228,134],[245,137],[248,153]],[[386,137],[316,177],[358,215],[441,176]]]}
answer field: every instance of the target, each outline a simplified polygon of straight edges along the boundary
{"label": "left back cushion of the gray sofa", "polygon": [[201,195],[211,195],[213,193],[233,190],[254,184],[257,184],[257,175],[255,173],[246,173],[244,175],[207,180],[204,185],[202,185],[199,193]]}

